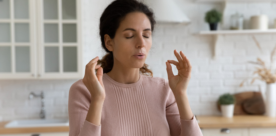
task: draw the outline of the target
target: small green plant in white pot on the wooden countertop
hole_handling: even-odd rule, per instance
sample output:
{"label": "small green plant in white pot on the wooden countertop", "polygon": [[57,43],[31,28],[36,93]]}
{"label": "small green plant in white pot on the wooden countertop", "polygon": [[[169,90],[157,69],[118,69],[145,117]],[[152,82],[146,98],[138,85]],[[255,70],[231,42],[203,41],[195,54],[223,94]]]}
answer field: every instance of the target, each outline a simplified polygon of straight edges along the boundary
{"label": "small green plant in white pot on the wooden countertop", "polygon": [[219,96],[218,103],[223,117],[233,117],[235,97],[229,93]]}

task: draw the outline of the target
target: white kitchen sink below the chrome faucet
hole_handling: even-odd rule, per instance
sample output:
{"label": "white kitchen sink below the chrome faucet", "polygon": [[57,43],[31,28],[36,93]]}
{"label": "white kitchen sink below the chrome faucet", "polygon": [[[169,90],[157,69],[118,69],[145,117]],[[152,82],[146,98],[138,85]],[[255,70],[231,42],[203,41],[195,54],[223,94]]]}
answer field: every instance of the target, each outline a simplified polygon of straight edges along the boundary
{"label": "white kitchen sink below the chrome faucet", "polygon": [[69,126],[68,119],[26,119],[12,120],[5,125],[11,127],[46,127],[46,126]]}

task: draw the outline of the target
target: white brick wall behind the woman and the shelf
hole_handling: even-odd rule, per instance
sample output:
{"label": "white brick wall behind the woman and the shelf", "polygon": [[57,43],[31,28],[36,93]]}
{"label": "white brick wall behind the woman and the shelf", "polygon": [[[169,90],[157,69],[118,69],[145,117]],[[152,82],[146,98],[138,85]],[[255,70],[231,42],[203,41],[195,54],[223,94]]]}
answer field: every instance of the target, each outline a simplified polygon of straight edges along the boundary
{"label": "white brick wall behind the woman and the shelf", "polygon": [[[188,26],[158,24],[153,37],[152,50],[146,60],[154,72],[154,76],[168,79],[165,62],[177,60],[173,51],[183,51],[190,60],[192,78],[188,86],[188,97],[191,108],[196,115],[218,115],[216,100],[223,93],[256,91],[258,84],[263,88],[265,83],[241,81],[252,77],[254,65],[247,61],[255,61],[257,57],[269,61],[270,51],[276,44],[275,34],[255,35],[259,41],[261,53],[249,35],[223,35],[218,45],[217,60],[212,59],[211,36],[195,35],[200,30],[209,30],[204,22],[205,13],[213,8],[221,11],[223,5],[218,3],[194,3],[190,0],[175,0],[192,23]],[[82,1],[82,36],[83,36],[83,69],[94,57],[104,55],[98,36],[98,19],[103,9],[111,2]],[[229,17],[236,11],[244,14],[245,27],[248,28],[250,16],[267,14],[273,26],[276,18],[275,3],[227,3],[224,13],[224,24],[219,29],[229,28]],[[99,53],[100,52],[100,53]],[[177,74],[174,65],[173,72]],[[39,118],[40,99],[28,99],[31,91],[46,94],[46,117],[68,117],[68,92],[76,80],[1,80],[0,81],[0,121],[24,118]]]}

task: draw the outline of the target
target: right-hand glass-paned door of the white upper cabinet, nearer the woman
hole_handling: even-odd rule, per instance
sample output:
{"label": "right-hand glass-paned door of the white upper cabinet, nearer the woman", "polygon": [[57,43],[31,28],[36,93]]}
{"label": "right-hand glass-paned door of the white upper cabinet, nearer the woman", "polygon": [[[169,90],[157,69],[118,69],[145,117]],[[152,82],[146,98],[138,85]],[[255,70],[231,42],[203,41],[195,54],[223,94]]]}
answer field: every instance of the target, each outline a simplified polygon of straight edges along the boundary
{"label": "right-hand glass-paned door of the white upper cabinet, nearer the woman", "polygon": [[40,78],[81,78],[79,0],[40,0]]}

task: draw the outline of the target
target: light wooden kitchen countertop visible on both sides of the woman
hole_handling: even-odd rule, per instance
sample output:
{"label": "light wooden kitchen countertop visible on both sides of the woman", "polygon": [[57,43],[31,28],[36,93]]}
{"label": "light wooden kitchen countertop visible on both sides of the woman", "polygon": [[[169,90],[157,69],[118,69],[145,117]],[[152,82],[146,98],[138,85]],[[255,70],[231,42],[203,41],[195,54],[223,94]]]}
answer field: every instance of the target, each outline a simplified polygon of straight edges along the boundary
{"label": "light wooden kitchen countertop visible on both sides of the woman", "polygon": [[[197,115],[196,118],[200,128],[276,127],[276,117],[267,117],[264,115],[234,115],[232,118]],[[0,134],[69,131],[69,126],[5,128],[4,126],[8,122],[0,122]]]}

